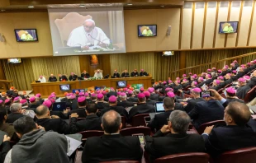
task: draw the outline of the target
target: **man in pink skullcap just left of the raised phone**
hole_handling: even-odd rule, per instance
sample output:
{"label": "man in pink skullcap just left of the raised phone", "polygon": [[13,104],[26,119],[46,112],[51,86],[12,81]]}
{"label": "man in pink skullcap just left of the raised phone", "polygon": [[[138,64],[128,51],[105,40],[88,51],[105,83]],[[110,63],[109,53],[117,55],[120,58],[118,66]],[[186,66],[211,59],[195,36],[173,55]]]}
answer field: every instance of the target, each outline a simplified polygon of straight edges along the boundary
{"label": "man in pink skullcap just left of the raised phone", "polygon": [[203,98],[200,97],[200,88],[194,88],[190,90],[190,95],[192,95],[191,100],[187,100],[187,105],[184,105],[184,110],[189,113],[192,109],[194,109],[197,102],[205,101]]}

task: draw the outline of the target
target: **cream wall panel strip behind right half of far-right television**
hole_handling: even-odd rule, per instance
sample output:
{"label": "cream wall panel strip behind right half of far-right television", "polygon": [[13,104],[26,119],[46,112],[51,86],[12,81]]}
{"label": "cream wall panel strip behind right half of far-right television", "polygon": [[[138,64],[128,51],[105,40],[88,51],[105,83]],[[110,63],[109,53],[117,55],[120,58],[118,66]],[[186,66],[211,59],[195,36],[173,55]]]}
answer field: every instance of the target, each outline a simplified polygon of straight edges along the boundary
{"label": "cream wall panel strip behind right half of far-right television", "polygon": [[[232,2],[233,5],[233,2]],[[239,21],[240,7],[231,7],[230,21]],[[227,34],[226,47],[235,47],[237,33]]]}

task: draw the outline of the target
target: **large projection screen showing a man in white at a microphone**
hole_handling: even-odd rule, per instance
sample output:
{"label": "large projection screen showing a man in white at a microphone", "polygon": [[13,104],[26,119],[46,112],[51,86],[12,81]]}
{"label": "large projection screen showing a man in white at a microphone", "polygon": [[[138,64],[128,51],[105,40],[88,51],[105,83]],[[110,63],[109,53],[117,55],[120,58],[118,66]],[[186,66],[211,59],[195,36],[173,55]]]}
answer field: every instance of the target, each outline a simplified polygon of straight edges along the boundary
{"label": "large projection screen showing a man in white at a microphone", "polygon": [[122,7],[48,13],[54,56],[126,53]]}

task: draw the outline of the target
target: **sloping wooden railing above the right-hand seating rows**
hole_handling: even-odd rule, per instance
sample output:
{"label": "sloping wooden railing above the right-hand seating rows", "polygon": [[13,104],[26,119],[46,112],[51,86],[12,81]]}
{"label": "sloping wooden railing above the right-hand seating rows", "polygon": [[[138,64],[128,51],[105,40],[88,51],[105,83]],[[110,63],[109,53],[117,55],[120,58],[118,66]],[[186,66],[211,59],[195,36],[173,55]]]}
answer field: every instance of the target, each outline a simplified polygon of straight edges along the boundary
{"label": "sloping wooden railing above the right-hand seating rows", "polygon": [[[192,72],[192,73],[196,73],[196,70],[197,69],[202,69],[202,68],[216,68],[216,69],[222,69],[223,66],[225,65],[225,62],[226,61],[230,61],[230,60],[238,60],[238,63],[240,63],[241,59],[244,58],[244,57],[248,57],[248,56],[251,56],[251,55],[256,55],[256,52],[253,52],[253,53],[249,53],[249,54],[242,54],[242,55],[238,55],[238,56],[235,56],[235,57],[231,57],[231,58],[225,58],[225,59],[221,59],[219,61],[216,61],[216,62],[212,62],[212,63],[204,63],[204,64],[200,64],[200,65],[197,65],[197,66],[192,66],[192,67],[189,67],[189,68],[183,68],[183,69],[179,69],[179,70],[175,70],[173,72],[169,72],[170,76],[169,77],[181,77],[183,73],[186,73],[186,72]],[[256,57],[255,57],[256,58]],[[254,59],[255,59],[254,58]],[[222,63],[222,65],[220,65],[220,63]],[[230,65],[229,65],[230,66]],[[206,72],[206,70],[202,70],[202,72]]]}

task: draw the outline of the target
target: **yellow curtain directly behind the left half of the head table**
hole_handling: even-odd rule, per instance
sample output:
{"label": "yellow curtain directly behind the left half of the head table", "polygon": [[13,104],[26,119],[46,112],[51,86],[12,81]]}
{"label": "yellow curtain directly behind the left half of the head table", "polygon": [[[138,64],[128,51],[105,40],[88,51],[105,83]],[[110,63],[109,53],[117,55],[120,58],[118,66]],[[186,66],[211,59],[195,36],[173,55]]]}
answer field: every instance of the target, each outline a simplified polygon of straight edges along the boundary
{"label": "yellow curtain directly behind the left half of the head table", "polygon": [[33,68],[34,80],[37,80],[40,75],[50,77],[51,73],[56,77],[59,73],[66,74],[69,77],[70,72],[74,72],[80,76],[78,56],[31,58],[31,65]]}

